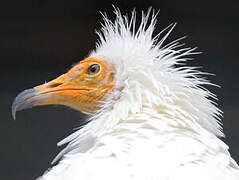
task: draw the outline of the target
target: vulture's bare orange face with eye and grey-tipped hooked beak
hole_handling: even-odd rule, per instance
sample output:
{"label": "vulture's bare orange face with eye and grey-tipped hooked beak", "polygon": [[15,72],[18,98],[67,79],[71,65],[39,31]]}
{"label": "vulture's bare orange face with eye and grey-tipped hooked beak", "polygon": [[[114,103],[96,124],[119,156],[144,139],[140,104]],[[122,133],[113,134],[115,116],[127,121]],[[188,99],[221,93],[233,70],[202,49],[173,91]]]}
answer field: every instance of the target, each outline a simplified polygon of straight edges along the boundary
{"label": "vulture's bare orange face with eye and grey-tipped hooked beak", "polygon": [[115,70],[100,59],[87,58],[58,78],[20,93],[12,112],[37,105],[63,104],[87,114],[96,112],[114,88]]}

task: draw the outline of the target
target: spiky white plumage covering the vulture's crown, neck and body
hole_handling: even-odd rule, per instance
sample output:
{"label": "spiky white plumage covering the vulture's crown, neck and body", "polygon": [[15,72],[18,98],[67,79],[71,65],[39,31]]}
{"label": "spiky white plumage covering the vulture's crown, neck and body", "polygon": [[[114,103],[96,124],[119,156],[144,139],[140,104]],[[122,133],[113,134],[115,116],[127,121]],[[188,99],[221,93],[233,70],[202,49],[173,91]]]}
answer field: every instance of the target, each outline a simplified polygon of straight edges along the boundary
{"label": "spiky white plumage covering the vulture's crown, neck and body", "polygon": [[[156,15],[136,13],[116,20],[104,15],[99,41],[89,57],[116,70],[115,89],[89,123],[68,143],[59,163],[40,180],[237,180],[239,167],[218,137],[220,110],[211,84],[195,68],[182,66],[195,54],[179,40],[164,45],[153,36]],[[181,49],[180,49],[181,48]]]}

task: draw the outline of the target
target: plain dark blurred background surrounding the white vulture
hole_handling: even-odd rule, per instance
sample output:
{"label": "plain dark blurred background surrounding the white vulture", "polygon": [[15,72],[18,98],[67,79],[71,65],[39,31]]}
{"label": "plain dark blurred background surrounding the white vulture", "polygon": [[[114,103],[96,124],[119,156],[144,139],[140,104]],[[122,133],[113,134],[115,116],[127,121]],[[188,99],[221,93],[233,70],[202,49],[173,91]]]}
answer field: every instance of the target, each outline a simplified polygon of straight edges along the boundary
{"label": "plain dark blurred background surrounding the white vulture", "polygon": [[209,79],[224,111],[223,139],[239,161],[239,1],[0,1],[0,179],[35,179],[61,148],[56,143],[82,123],[82,114],[62,106],[38,107],[11,117],[11,103],[22,90],[66,72],[94,48],[100,28],[99,11],[112,13],[112,4],[125,12],[149,6],[160,9],[159,32],[178,22],[169,40],[188,35],[184,42],[204,52],[190,62],[216,74]]}

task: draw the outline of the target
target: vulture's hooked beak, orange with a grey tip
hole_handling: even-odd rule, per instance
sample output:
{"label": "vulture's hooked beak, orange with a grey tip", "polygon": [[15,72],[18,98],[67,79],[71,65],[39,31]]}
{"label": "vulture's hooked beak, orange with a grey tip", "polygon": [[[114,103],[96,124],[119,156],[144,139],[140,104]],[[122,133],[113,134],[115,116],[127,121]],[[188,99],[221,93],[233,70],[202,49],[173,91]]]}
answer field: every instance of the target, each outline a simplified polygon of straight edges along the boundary
{"label": "vulture's hooked beak, orange with a grey tip", "polygon": [[77,86],[68,79],[68,74],[63,74],[49,83],[18,94],[12,104],[13,119],[16,119],[17,111],[41,105],[61,104],[80,110],[81,100],[78,97],[87,95],[91,89],[86,86]]}

